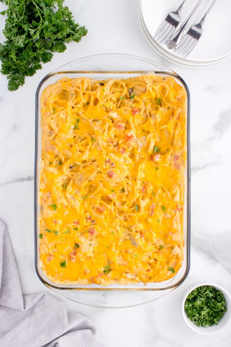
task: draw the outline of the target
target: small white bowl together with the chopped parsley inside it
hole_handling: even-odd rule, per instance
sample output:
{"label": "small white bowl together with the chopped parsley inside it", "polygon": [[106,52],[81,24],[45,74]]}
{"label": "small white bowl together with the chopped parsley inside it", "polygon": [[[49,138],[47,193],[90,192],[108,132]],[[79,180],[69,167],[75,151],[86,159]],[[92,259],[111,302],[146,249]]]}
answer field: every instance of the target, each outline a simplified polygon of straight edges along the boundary
{"label": "small white bowl together with the chopped parsley inside it", "polygon": [[231,298],[218,285],[205,283],[190,288],[182,301],[182,313],[187,325],[202,334],[221,331],[231,318]]}

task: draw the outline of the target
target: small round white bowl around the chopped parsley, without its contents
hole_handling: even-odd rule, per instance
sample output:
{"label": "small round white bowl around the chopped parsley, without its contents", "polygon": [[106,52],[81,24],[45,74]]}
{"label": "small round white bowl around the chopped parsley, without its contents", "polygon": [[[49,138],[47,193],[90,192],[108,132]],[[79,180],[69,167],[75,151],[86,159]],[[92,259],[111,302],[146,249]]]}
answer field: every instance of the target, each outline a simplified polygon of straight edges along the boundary
{"label": "small round white bowl around the chopped parsley, without its contents", "polygon": [[[190,321],[190,319],[188,319],[187,314],[185,313],[185,301],[188,294],[191,293],[193,289],[201,287],[201,286],[213,286],[217,290],[220,290],[223,293],[225,301],[226,301],[227,311],[225,312],[222,319],[217,323],[217,325],[212,325],[211,327],[197,327],[192,321]],[[197,286],[190,287],[183,296],[181,308],[182,308],[182,315],[184,317],[186,324],[194,331],[204,335],[212,335],[212,334],[216,334],[217,332],[220,332],[229,324],[231,319],[231,297],[227,290],[217,285],[216,283],[202,283]]]}

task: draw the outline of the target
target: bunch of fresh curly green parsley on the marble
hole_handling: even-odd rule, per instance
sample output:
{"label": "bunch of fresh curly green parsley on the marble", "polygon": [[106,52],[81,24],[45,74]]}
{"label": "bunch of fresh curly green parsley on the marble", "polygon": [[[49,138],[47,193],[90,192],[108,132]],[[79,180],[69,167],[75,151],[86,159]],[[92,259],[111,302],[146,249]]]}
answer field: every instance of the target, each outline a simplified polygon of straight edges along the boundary
{"label": "bunch of fresh curly green parsley on the marble", "polygon": [[[3,0],[0,0],[3,2]],[[85,26],[74,22],[63,0],[4,0],[8,6],[0,44],[1,73],[7,75],[8,89],[16,90],[53,57],[63,52],[65,43],[79,42],[87,34]]]}

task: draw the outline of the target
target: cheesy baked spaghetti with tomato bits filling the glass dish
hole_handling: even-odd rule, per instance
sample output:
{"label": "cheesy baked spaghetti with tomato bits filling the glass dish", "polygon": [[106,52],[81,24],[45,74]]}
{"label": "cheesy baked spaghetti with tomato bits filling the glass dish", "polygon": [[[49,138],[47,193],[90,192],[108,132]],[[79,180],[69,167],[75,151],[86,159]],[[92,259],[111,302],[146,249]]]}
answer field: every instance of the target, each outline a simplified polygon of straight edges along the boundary
{"label": "cheesy baked spaghetti with tomato bits filling the glass dish", "polygon": [[159,282],[184,258],[186,93],[153,74],[41,98],[40,266],[55,283]]}

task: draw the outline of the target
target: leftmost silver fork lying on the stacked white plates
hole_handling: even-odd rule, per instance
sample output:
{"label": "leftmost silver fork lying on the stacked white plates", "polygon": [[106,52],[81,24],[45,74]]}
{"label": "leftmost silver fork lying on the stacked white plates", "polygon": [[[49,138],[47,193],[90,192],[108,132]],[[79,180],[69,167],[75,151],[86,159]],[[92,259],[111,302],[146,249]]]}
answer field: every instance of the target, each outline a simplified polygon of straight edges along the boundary
{"label": "leftmost silver fork lying on the stacked white plates", "polygon": [[165,44],[168,37],[174,32],[175,28],[180,23],[180,12],[183,9],[186,1],[187,0],[182,1],[177,10],[170,12],[165,18],[165,21],[162,23],[160,29],[154,37],[156,42],[159,44]]}

